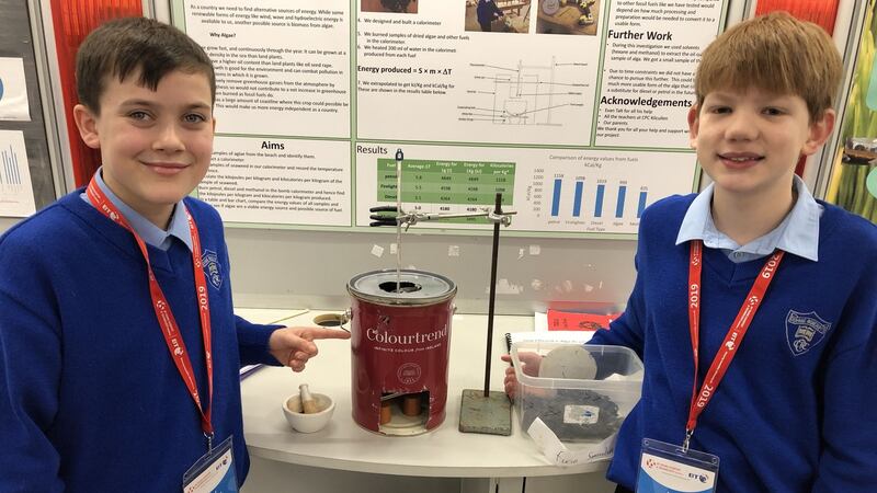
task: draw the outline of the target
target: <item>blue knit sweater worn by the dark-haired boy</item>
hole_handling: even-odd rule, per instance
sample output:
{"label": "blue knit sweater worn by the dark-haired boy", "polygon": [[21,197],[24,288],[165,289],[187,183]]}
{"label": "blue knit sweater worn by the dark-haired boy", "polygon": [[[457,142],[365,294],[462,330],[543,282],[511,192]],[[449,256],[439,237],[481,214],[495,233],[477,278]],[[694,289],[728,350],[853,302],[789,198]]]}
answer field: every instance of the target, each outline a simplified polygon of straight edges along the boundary
{"label": "blue knit sweater worn by the dark-haired boy", "polygon": [[[180,491],[206,451],[200,414],[168,354],[132,234],[80,193],[0,238],[0,491]],[[238,370],[276,364],[267,354],[275,326],[234,316],[219,216],[185,204],[207,256],[215,443],[235,437],[242,482]],[[149,246],[149,257],[207,395],[191,253],[175,241],[167,252]]]}

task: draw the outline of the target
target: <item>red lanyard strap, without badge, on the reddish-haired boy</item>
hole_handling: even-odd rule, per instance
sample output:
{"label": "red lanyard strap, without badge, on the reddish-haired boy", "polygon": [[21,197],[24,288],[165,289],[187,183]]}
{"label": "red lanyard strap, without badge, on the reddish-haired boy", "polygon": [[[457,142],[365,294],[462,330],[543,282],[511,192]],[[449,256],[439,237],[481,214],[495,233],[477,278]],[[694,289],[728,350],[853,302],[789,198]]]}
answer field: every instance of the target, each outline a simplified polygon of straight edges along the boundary
{"label": "red lanyard strap, without badge, on the reddish-haired boy", "polygon": [[688,265],[688,326],[691,328],[692,335],[692,352],[694,353],[694,385],[692,386],[692,403],[688,408],[688,422],[685,424],[685,442],[683,449],[687,451],[688,442],[697,426],[697,417],[704,412],[706,404],[713,399],[719,382],[728,371],[731,360],[737,354],[737,349],[743,342],[743,336],[759,310],[764,294],[767,291],[767,286],[779,268],[779,262],[783,260],[785,252],[782,250],[775,251],[764,263],[759,276],[755,278],[752,288],[749,290],[743,306],[740,307],[740,312],[733,320],[731,328],[725,335],[725,341],[719,347],[716,357],[713,358],[713,364],[704,378],[704,385],[701,387],[701,392],[697,392],[697,352],[701,344],[701,271],[703,267],[703,250],[704,243],[701,240],[693,240],[691,242],[691,263]]}

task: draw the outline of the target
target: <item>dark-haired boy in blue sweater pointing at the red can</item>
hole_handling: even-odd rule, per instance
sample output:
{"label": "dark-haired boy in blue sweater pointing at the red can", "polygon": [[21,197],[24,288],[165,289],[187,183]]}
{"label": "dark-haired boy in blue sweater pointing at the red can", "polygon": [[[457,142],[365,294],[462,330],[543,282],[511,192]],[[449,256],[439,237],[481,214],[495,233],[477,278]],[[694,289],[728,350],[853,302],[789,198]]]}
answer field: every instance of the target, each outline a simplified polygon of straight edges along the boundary
{"label": "dark-haired boy in blue sweater pointing at the red can", "polygon": [[223,222],[187,197],[215,126],[200,46],[110,22],[79,49],[77,89],[102,168],[0,238],[0,491],[181,491],[208,449],[236,490],[241,365],[300,371],[314,340],[349,334],[234,314]]}

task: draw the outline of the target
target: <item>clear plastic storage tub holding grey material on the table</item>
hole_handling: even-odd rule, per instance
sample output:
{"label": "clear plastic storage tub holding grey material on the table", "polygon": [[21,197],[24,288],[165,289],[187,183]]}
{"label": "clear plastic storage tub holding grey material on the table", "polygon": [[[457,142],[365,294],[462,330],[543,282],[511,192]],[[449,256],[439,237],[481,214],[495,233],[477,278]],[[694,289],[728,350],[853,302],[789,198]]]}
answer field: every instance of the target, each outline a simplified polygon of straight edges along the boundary
{"label": "clear plastic storage tub holding grey material on the table", "polygon": [[627,347],[525,341],[511,356],[525,432],[539,417],[560,442],[601,442],[639,401],[642,362]]}

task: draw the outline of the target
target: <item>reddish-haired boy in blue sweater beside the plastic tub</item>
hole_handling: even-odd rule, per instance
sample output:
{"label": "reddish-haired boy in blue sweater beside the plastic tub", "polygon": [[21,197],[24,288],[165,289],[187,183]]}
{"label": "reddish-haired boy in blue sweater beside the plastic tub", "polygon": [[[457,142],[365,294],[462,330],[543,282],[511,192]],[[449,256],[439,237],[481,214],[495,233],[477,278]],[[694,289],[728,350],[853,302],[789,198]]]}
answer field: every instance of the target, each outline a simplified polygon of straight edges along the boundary
{"label": "reddish-haired boy in blue sweater beside the plastic tub", "polygon": [[688,124],[713,183],[646,210],[627,308],[591,341],[646,367],[617,491],[653,466],[643,438],[718,457],[720,492],[877,491],[877,228],[794,174],[833,128],[841,69],[785,13],[704,51]]}

